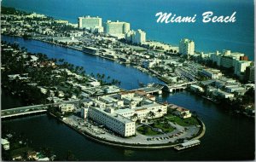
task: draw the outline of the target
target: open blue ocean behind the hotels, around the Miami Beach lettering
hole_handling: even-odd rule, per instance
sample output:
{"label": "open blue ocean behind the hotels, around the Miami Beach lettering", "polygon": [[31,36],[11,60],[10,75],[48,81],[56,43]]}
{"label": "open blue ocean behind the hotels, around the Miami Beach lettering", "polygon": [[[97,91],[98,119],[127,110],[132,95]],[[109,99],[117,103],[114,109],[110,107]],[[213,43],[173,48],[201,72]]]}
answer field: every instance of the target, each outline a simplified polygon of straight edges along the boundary
{"label": "open blue ocean behind the hotels, around the Miami Beach lettering", "polygon": [[[3,6],[47,14],[57,19],[77,22],[82,15],[102,17],[106,20],[125,20],[132,29],[142,28],[147,38],[178,44],[181,38],[195,41],[197,51],[231,49],[245,53],[254,60],[253,0],[3,0]],[[183,16],[197,14],[193,24],[157,24],[157,12]],[[201,14],[212,11],[215,15],[231,15],[236,11],[235,23],[202,23]]]}

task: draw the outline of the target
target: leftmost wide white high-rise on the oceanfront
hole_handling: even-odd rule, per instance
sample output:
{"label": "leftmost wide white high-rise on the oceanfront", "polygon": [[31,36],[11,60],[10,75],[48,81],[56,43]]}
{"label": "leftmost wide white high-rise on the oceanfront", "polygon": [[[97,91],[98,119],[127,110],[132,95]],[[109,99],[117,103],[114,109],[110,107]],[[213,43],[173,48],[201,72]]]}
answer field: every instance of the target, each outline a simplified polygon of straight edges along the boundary
{"label": "leftmost wide white high-rise on the oceanfront", "polygon": [[91,32],[103,32],[102,18],[90,17],[89,15],[79,17],[79,28],[85,28],[90,30]]}

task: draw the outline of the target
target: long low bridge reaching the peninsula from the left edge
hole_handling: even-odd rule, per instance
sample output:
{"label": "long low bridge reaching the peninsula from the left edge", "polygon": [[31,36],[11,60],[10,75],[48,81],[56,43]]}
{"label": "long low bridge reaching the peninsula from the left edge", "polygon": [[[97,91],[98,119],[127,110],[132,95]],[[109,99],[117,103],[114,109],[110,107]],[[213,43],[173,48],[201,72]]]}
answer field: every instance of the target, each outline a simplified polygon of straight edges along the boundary
{"label": "long low bridge reaching the peninsula from the left edge", "polygon": [[33,105],[28,107],[16,107],[16,108],[5,109],[1,111],[1,119],[18,117],[18,116],[23,116],[28,114],[44,113],[44,112],[47,112],[47,109],[49,108],[49,106],[59,106],[65,103],[79,104],[80,102],[83,102],[83,101],[85,100],[62,101],[62,102],[42,104],[42,105]]}

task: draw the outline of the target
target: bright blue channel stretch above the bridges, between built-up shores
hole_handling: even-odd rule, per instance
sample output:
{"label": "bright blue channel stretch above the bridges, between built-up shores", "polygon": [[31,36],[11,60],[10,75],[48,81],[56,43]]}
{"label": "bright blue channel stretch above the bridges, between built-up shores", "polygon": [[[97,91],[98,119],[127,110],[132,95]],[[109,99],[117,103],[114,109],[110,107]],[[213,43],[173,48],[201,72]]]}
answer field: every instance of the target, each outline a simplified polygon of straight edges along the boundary
{"label": "bright blue channel stretch above the bridges, between built-up shores", "polygon": [[159,83],[164,84],[158,78],[151,77],[134,67],[125,67],[117,62],[108,61],[94,55],[86,55],[83,52],[62,48],[50,43],[44,43],[31,39],[15,38],[3,36],[3,41],[9,43],[16,42],[20,47],[25,47],[31,53],[43,53],[49,58],[64,59],[75,66],[84,67],[87,74],[91,72],[96,76],[97,73],[104,73],[106,77],[118,79],[120,87],[125,90],[133,90],[139,88],[139,83]]}

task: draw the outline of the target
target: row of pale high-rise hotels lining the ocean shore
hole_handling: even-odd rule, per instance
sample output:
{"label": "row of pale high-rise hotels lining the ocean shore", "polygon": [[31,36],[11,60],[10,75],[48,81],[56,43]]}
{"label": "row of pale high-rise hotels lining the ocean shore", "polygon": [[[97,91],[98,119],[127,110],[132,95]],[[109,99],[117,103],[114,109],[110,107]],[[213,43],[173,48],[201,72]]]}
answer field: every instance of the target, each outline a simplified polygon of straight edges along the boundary
{"label": "row of pale high-rise hotels lining the ocean shore", "polygon": [[[26,15],[26,18],[43,18],[44,14],[29,14]],[[21,17],[16,16],[16,18],[21,19]],[[164,43],[156,43],[156,42],[146,42],[146,32],[143,30],[133,31],[131,30],[130,23],[121,22],[121,21],[110,21],[108,20],[102,26],[102,18],[100,17],[90,17],[84,16],[79,17],[78,26],[80,29],[87,29],[90,32],[105,32],[115,38],[125,38],[127,42],[143,44],[148,47],[154,47],[157,49],[163,49],[163,51],[176,51],[182,55],[196,56],[201,57],[203,60],[209,60],[216,62],[218,67],[232,67],[234,69],[234,73],[241,79],[245,79],[251,82],[254,82],[254,65],[253,61],[248,61],[247,56],[241,53],[234,53],[230,50],[224,50],[222,53],[216,51],[215,53],[195,53],[195,42],[193,40],[189,40],[188,38],[183,38],[179,42],[178,47],[172,47],[168,44]],[[57,23],[67,24],[66,20],[55,20]],[[1,22],[3,23],[3,22]],[[4,24],[4,23],[3,23]],[[6,28],[2,29],[2,32],[6,30]],[[46,31],[46,30],[44,30]],[[81,34],[82,35],[82,34]],[[75,37],[75,36],[73,36]],[[59,38],[63,39],[63,38]],[[78,42],[79,40],[69,40],[71,42]],[[74,38],[73,38],[74,39]],[[66,40],[66,41],[67,41]],[[67,42],[66,42],[67,43]],[[218,77],[218,72],[207,72],[207,75],[210,75],[210,78]]]}

